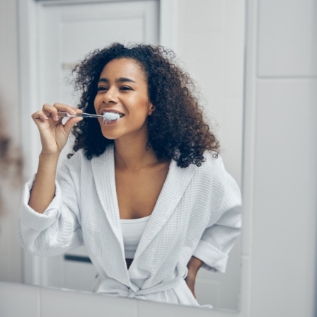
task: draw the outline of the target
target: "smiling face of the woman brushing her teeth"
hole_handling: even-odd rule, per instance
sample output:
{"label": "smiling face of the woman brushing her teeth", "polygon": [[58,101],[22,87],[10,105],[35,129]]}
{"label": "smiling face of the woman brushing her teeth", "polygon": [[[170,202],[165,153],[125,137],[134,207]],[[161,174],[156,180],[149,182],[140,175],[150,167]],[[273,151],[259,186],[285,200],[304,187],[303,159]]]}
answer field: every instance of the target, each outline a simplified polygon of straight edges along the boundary
{"label": "smiling face of the woman brushing her teeth", "polygon": [[99,118],[101,131],[107,139],[147,139],[147,117],[153,107],[148,98],[146,76],[134,59],[113,59],[100,74],[95,98],[98,115],[118,113],[120,119],[105,121]]}

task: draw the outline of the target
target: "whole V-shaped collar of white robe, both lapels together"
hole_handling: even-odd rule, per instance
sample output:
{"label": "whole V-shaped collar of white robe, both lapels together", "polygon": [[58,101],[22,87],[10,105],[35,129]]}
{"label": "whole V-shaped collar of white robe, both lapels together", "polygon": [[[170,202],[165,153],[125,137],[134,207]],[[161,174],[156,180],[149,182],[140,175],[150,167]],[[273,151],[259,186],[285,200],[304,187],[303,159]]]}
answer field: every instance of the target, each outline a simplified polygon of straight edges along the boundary
{"label": "whole V-shaped collar of white robe, both lapels together", "polygon": [[[108,146],[104,154],[93,157],[91,166],[100,204],[103,207],[105,216],[122,250],[122,260],[125,261],[119,206],[115,188],[114,154],[114,146]],[[151,241],[163,228],[164,224],[166,224],[169,217],[171,217],[175,207],[183,197],[183,193],[188,183],[190,183],[194,172],[195,166],[193,164],[190,164],[187,168],[180,168],[175,161],[171,161],[165,183],[156,201],[151,218],[144,229],[144,234],[137,247],[137,252],[134,255],[134,261],[142,254],[146,247],[149,246]]]}

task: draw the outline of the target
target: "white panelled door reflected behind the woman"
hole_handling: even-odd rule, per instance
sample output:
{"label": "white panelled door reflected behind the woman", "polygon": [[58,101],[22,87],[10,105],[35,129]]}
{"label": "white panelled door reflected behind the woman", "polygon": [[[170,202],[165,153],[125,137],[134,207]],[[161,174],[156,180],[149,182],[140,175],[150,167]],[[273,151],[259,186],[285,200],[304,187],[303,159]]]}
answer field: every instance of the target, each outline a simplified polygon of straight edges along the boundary
{"label": "white panelled door reflected behind the woman", "polygon": [[[111,42],[159,44],[159,0],[63,5],[46,1],[39,6],[38,21],[40,104],[77,104],[67,76],[91,50]],[[67,153],[69,147],[62,159]],[[88,261],[84,248],[43,260],[42,285],[92,290],[96,270]]]}

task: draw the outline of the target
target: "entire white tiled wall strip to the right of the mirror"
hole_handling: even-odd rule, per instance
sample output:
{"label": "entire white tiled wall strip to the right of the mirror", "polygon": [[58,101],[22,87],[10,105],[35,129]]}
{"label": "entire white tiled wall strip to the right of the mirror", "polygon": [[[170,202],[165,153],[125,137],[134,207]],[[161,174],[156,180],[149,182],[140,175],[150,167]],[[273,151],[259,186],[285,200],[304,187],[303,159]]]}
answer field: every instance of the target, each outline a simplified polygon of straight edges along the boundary
{"label": "entire white tiled wall strip to the right of the mirror", "polygon": [[249,9],[250,316],[310,317],[316,299],[317,1],[258,0]]}

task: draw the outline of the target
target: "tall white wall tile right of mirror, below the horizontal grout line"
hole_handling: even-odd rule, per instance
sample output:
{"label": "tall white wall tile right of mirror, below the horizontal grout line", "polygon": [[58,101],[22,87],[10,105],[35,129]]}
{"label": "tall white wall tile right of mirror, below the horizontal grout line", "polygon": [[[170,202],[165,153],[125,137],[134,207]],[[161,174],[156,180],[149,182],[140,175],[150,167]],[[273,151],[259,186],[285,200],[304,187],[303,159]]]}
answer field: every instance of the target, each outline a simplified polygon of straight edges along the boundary
{"label": "tall white wall tile right of mirror, below the horizontal grout line", "polygon": [[251,316],[313,316],[316,91],[317,80],[258,83]]}

